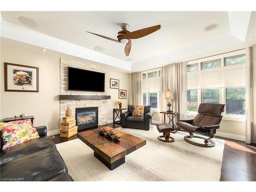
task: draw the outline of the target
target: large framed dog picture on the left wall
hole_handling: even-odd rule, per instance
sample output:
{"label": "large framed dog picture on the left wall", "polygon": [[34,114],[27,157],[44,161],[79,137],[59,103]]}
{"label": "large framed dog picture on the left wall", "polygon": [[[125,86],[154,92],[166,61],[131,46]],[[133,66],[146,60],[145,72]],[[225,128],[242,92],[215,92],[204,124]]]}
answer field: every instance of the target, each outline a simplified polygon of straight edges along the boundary
{"label": "large framed dog picture on the left wall", "polygon": [[39,68],[5,62],[5,91],[39,92]]}

